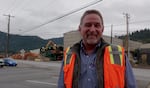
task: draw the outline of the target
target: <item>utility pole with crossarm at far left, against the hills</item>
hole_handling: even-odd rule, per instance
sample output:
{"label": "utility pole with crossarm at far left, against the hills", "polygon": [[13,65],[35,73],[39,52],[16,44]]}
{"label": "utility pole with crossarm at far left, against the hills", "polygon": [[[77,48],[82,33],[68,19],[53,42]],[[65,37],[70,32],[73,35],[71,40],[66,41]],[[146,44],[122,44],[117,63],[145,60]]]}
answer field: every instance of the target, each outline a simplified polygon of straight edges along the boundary
{"label": "utility pole with crossarm at far left, against the hills", "polygon": [[4,16],[7,16],[8,17],[8,31],[7,31],[7,39],[6,39],[6,54],[5,56],[8,57],[8,53],[9,53],[9,31],[10,31],[10,17],[14,17],[14,16],[11,16],[10,14],[9,15],[4,15]]}

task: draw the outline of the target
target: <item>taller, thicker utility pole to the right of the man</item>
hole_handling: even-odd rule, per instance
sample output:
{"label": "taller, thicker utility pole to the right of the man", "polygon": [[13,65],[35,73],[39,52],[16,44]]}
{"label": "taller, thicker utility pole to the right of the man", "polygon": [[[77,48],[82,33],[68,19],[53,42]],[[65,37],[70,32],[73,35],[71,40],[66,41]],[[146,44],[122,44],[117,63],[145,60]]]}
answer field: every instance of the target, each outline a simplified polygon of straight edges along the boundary
{"label": "taller, thicker utility pole to the right of the man", "polygon": [[130,48],[129,48],[129,14],[128,13],[123,13],[125,18],[126,18],[126,50],[127,50],[127,56],[130,58]]}

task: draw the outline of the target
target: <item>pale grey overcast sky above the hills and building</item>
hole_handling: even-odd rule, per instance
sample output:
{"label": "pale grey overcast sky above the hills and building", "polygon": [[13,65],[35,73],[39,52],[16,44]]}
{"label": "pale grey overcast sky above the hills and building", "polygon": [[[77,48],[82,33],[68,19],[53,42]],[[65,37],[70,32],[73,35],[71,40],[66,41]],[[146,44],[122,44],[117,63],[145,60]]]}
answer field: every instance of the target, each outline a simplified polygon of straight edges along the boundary
{"label": "pale grey overcast sky above the hills and building", "polygon": [[[0,0],[0,31],[7,32],[8,16],[4,14],[10,14],[14,16],[10,20],[12,34],[33,35],[44,39],[62,37],[63,33],[78,29],[80,17],[87,9],[97,9],[102,13],[105,24],[104,35],[110,36],[111,24],[113,35],[126,34],[126,20],[123,13],[130,16],[129,32],[150,28],[150,0],[103,0],[47,23],[95,1]],[[40,26],[44,23],[47,24]]]}

